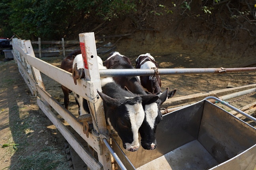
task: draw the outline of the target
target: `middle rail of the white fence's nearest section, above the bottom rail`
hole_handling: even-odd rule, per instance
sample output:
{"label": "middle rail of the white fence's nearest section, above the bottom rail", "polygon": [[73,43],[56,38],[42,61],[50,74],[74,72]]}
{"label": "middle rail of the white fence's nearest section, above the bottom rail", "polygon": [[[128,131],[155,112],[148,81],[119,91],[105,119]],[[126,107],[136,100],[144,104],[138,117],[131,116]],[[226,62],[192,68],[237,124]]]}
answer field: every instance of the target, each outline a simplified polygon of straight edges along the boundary
{"label": "middle rail of the white fence's nearest section, above the bottom rail", "polygon": [[70,124],[70,126],[90,145],[96,150],[96,152],[100,152],[99,141],[96,137],[94,137],[90,132],[88,138],[83,133],[83,126],[80,122],[78,122],[77,118],[70,113],[67,109],[65,109],[60,103],[58,103],[48,92],[43,90],[41,87],[37,86],[38,93],[41,97],[47,101],[55,109],[64,120]]}

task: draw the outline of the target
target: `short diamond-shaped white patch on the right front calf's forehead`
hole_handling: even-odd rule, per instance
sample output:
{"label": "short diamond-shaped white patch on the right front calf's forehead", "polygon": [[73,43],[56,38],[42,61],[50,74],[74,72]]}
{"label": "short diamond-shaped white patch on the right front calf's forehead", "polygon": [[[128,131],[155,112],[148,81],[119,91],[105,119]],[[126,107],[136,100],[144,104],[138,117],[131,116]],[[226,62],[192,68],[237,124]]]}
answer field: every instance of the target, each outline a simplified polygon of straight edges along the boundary
{"label": "short diamond-shaped white patch on the right front calf's forehead", "polygon": [[151,103],[149,105],[145,105],[145,115],[146,115],[147,123],[153,129],[156,117],[158,115],[157,103]]}

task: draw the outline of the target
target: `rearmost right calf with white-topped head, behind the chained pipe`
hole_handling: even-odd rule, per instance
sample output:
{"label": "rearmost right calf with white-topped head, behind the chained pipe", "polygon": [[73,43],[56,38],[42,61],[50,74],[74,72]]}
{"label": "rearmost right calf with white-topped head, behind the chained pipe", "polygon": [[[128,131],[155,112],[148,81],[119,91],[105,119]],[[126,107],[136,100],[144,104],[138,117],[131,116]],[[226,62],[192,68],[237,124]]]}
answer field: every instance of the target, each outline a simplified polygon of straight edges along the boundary
{"label": "rearmost right calf with white-topped head, behind the chained pipe", "polygon": [[[136,68],[141,68],[141,69],[151,69],[152,67],[157,67],[158,65],[154,59],[154,57],[152,57],[149,53],[146,54],[142,54],[139,55],[139,57],[136,59]],[[159,94],[162,93],[161,90],[161,79],[160,76],[157,77],[157,81],[155,77],[151,77],[151,76],[140,76],[140,80],[141,80],[141,85],[147,89],[149,92],[153,92],[152,91],[152,84],[156,85],[155,89],[154,89],[154,94]],[[174,96],[174,94],[176,93],[176,89],[174,89],[173,91],[168,92],[168,98],[172,98]]]}

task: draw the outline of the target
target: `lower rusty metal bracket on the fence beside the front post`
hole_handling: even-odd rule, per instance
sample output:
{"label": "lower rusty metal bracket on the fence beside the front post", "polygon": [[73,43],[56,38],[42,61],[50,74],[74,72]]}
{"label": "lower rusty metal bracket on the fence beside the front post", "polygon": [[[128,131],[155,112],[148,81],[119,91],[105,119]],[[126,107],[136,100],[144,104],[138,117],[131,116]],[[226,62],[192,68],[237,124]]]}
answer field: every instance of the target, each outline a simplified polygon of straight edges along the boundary
{"label": "lower rusty metal bracket on the fence beside the front post", "polygon": [[78,116],[77,120],[83,123],[83,133],[85,133],[85,135],[88,138],[89,131],[93,129],[92,115],[90,114],[81,115],[81,116]]}

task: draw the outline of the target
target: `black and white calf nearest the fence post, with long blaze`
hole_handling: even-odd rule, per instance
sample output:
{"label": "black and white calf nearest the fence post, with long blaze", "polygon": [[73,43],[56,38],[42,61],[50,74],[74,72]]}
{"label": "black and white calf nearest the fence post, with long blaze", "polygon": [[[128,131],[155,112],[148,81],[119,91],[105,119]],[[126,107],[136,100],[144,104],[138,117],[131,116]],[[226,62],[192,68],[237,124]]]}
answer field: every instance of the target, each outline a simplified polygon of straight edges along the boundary
{"label": "black and white calf nearest the fence post, with long blaze", "polygon": [[[77,55],[73,65],[77,63],[77,68],[83,68],[82,55]],[[99,69],[106,69],[102,65],[102,60],[98,57]],[[137,95],[122,89],[113,78],[101,78],[102,92],[98,92],[104,102],[105,118],[111,127],[121,138],[123,147],[131,152],[139,148],[139,127],[141,126],[145,112],[143,104],[150,104],[158,100],[156,95]],[[75,94],[79,103],[79,111],[88,113],[87,101]],[[83,108],[81,106],[83,105]],[[87,110],[87,111],[86,111]]]}

